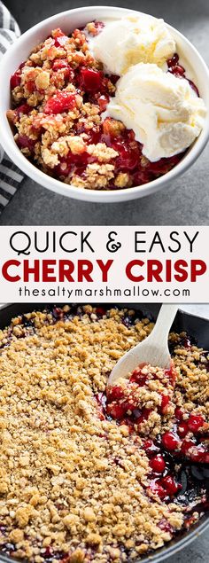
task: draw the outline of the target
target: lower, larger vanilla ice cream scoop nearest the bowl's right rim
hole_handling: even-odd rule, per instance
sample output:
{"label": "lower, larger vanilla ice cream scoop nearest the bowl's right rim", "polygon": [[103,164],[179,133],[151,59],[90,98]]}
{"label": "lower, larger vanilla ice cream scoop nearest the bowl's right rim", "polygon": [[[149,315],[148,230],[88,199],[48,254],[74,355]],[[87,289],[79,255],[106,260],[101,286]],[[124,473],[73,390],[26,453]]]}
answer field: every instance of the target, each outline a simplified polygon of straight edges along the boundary
{"label": "lower, larger vanilla ice cream scoop nearest the bowl's right rim", "polygon": [[107,114],[133,129],[143,154],[157,161],[188,148],[203,128],[205,103],[184,78],[156,65],[131,66],[117,82]]}

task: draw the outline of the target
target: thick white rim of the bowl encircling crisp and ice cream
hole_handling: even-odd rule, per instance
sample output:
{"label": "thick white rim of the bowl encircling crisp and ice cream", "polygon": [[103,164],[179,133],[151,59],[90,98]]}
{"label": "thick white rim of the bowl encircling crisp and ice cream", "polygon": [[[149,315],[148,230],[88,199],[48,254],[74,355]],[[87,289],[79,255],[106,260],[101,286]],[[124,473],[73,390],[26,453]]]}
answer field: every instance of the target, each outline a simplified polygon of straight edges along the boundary
{"label": "thick white rim of the bowl encircling crisp and ice cream", "polygon": [[[12,59],[12,54],[16,51],[17,46],[18,49],[21,48],[21,45],[27,41],[28,38],[33,36],[36,31],[44,29],[44,27],[48,26],[51,23],[53,26],[53,22],[56,22],[59,17],[65,18],[69,17],[70,14],[74,13],[83,13],[88,16],[89,12],[97,12],[97,18],[99,17],[99,13],[108,12],[108,15],[111,16],[113,13],[116,15],[117,13],[128,14],[128,13],[144,13],[137,10],[129,10],[128,8],[120,8],[119,6],[87,6],[87,7],[80,7],[74,8],[72,10],[66,10],[65,12],[58,12],[50,18],[46,18],[41,22],[35,24],[35,26],[30,27],[23,35],[19,37],[17,42],[13,43],[13,45],[9,48],[9,50],[4,54],[4,57],[0,63],[0,74],[4,74],[5,69],[8,68],[10,60]],[[149,14],[146,14],[149,15]],[[92,16],[91,16],[92,17]],[[103,16],[104,17],[104,16]],[[205,60],[197,51],[196,47],[190,43],[189,39],[182,35],[178,29],[175,27],[166,24],[166,26],[174,32],[174,35],[179,37],[180,41],[183,42],[190,52],[194,53],[194,55],[199,60],[199,63],[202,68],[202,72],[205,73],[206,82],[208,84],[208,92],[209,92],[209,69],[205,64]],[[191,65],[192,66],[192,65]],[[1,98],[1,93],[0,93]],[[186,171],[190,166],[197,160],[199,154],[204,150],[205,145],[209,139],[209,98],[207,103],[207,113],[205,116],[205,123],[204,128],[202,129],[199,137],[194,141],[193,145],[191,145],[186,152],[186,154],[182,157],[182,160],[178,164],[174,166],[169,172],[166,172],[163,176],[159,176],[159,178],[152,180],[147,184],[143,184],[140,186],[135,186],[133,188],[123,188],[119,190],[89,190],[87,188],[78,188],[74,186],[74,184],[65,184],[61,182],[57,178],[47,175],[41,169],[37,168],[35,164],[27,160],[22,152],[20,152],[19,147],[15,144],[14,139],[11,136],[11,128],[10,124],[7,121],[7,117],[5,115],[4,109],[0,104],[0,122],[1,122],[1,134],[0,140],[2,138],[3,146],[5,152],[8,156],[17,164],[17,166],[22,170],[27,176],[31,177],[35,182],[38,184],[43,185],[47,189],[52,192],[57,192],[59,195],[65,195],[67,197],[72,197],[74,199],[81,199],[86,200],[89,202],[114,202],[114,201],[123,201],[128,199],[135,199],[141,198],[146,195],[150,195],[153,192],[159,192],[160,189],[165,187],[166,184],[171,184],[174,178],[180,176],[184,171]]]}

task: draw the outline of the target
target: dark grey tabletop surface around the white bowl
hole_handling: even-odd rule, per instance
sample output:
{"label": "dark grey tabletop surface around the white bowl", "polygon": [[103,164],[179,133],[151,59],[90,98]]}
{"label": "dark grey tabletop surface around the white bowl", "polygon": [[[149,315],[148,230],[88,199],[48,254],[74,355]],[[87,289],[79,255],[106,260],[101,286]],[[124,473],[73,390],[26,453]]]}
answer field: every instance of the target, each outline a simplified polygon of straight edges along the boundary
{"label": "dark grey tabletop surface around the white bowl", "polygon": [[[68,0],[4,0],[19,21],[22,31],[36,22],[73,7],[98,2]],[[208,0],[130,0],[111,2],[123,7],[163,17],[194,43],[209,63]],[[0,223],[14,224],[208,224],[209,218],[209,147],[197,163],[167,191],[122,204],[89,204],[58,196],[26,179],[17,195],[4,210]]]}

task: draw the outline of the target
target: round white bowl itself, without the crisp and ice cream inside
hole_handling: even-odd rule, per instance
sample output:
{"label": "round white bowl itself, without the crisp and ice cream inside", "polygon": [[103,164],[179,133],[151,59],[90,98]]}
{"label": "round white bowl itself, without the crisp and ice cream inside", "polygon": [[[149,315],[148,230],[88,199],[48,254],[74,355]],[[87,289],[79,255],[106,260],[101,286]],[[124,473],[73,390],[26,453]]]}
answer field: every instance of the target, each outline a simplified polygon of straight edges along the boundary
{"label": "round white bowl itself, without the crisp and ice cream inside", "polygon": [[[76,8],[61,12],[43,20],[41,23],[31,27],[25,34],[21,35],[16,43],[7,51],[0,64],[1,76],[1,89],[0,89],[0,143],[4,146],[5,152],[15,162],[15,164],[30,176],[38,184],[42,184],[52,192],[57,192],[60,195],[65,195],[74,199],[83,199],[86,201],[124,201],[128,199],[142,198],[153,192],[158,192],[161,188],[165,187],[174,181],[177,176],[185,172],[187,168],[193,164],[197,159],[200,152],[203,151],[208,138],[209,138],[209,71],[205,65],[204,60],[201,58],[195,47],[182,35],[168,26],[177,44],[177,51],[183,56],[187,66],[191,69],[194,75],[194,80],[197,84],[200,96],[205,101],[207,108],[207,116],[205,119],[204,129],[190,147],[190,150],[182,158],[170,172],[164,176],[160,176],[157,180],[136,186],[134,188],[126,188],[124,190],[116,191],[97,191],[86,190],[84,188],[77,188],[76,186],[64,184],[55,178],[47,176],[41,170],[31,164],[29,160],[19,151],[13,136],[12,130],[6,118],[6,111],[10,107],[10,77],[18,68],[19,64],[27,59],[30,51],[33,50],[35,45],[42,42],[47,35],[50,35],[51,29],[61,27],[66,34],[69,34],[75,27],[81,27],[92,20],[103,20],[104,18],[120,18],[128,13],[139,13],[133,10],[124,8],[115,8],[112,6],[89,6],[85,8]],[[164,14],[161,14],[162,17]]]}

